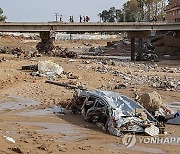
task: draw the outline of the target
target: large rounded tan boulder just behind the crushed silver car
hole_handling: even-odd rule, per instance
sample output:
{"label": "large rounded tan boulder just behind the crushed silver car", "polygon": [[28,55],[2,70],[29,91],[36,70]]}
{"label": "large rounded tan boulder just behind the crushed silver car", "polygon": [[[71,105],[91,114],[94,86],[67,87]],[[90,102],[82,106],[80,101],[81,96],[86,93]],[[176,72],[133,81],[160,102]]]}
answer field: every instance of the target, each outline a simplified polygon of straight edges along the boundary
{"label": "large rounded tan boulder just behind the crushed silver car", "polygon": [[140,96],[140,104],[150,112],[154,112],[163,106],[161,96],[156,91],[142,94]]}

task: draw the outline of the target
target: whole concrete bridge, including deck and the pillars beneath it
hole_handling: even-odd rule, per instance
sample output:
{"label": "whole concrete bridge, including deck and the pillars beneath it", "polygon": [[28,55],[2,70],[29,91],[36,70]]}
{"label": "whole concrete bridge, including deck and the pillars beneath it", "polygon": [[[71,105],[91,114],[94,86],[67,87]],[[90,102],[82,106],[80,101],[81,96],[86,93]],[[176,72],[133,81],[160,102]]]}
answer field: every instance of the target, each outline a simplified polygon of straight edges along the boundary
{"label": "whole concrete bridge, including deck and the pillars beneath it", "polygon": [[138,50],[142,50],[142,38],[152,31],[175,31],[179,34],[180,23],[166,22],[119,22],[119,23],[60,23],[60,22],[0,22],[0,32],[40,33],[42,43],[53,43],[55,32],[93,33],[129,32],[131,37],[131,60],[135,60],[135,38],[139,39]]}

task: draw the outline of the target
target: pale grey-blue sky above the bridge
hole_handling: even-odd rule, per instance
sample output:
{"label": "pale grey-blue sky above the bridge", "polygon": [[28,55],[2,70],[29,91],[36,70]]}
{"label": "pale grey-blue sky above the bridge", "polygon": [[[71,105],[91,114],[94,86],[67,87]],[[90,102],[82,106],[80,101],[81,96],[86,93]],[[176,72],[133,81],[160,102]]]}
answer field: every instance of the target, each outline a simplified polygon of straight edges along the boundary
{"label": "pale grey-blue sky above the bridge", "polygon": [[99,21],[98,14],[110,7],[122,8],[128,0],[0,0],[9,22],[55,21],[55,13],[62,14],[63,21],[73,15],[88,15],[91,21]]}

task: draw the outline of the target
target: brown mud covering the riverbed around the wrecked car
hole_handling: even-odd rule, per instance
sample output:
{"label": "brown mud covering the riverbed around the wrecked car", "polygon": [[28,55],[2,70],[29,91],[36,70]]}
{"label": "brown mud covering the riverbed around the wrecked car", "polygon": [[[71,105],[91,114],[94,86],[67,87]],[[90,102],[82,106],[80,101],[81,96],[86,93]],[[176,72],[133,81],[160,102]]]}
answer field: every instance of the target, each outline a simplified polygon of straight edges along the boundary
{"label": "brown mud covering the riverbed around the wrecked car", "polygon": [[[37,42],[22,43],[18,39],[0,38],[0,46],[35,49]],[[108,40],[91,40],[92,46],[106,45]],[[74,48],[84,47],[83,41],[57,41],[57,45]],[[158,63],[131,63],[98,59],[70,59],[35,57],[33,59],[15,58],[13,55],[0,54],[0,153],[180,153],[179,146],[172,144],[141,144],[125,148],[122,138],[112,136],[96,125],[84,120],[80,115],[61,112],[60,106],[67,106],[73,90],[45,83],[46,77],[33,77],[31,72],[21,70],[22,66],[36,65],[40,60],[52,60],[72,72],[78,79],[66,76],[56,77],[57,82],[83,85],[88,89],[113,90],[130,98],[134,93],[142,94],[156,90],[163,103],[179,102],[179,91],[166,91],[150,86],[144,79],[152,76],[180,78],[179,61]],[[114,58],[114,57],[113,57]],[[116,57],[115,57],[116,58]],[[118,61],[118,63],[117,63]],[[117,65],[116,65],[117,63]],[[96,69],[93,69],[96,68]],[[98,69],[97,69],[98,68]],[[101,70],[105,68],[105,73]],[[175,68],[175,69],[171,69]],[[112,70],[114,74],[110,71]],[[175,70],[175,71],[174,71]],[[177,71],[176,71],[177,70]],[[115,74],[119,72],[123,76]],[[124,77],[124,78],[123,78]],[[136,78],[135,78],[136,77]],[[132,78],[132,80],[129,80]],[[137,84],[136,81],[143,84]],[[132,82],[133,81],[133,82]],[[148,80],[147,80],[148,81]],[[126,89],[114,89],[117,84],[129,83]],[[178,106],[177,104],[175,104]],[[60,110],[60,112],[59,112]],[[180,135],[179,125],[166,125],[168,137]],[[3,136],[12,137],[16,143],[7,141]],[[141,135],[137,134],[137,137]]]}

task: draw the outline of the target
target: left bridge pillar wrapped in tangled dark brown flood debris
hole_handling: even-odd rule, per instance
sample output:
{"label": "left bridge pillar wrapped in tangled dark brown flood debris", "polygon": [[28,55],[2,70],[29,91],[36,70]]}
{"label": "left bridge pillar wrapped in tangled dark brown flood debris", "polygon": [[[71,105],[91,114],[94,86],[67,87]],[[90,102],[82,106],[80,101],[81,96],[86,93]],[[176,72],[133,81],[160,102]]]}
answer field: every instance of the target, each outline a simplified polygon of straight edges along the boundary
{"label": "left bridge pillar wrapped in tangled dark brown flood debris", "polygon": [[54,40],[55,36],[52,35],[50,31],[40,32],[41,42],[39,42],[36,46],[37,50],[41,54],[50,55],[51,51],[54,48]]}

